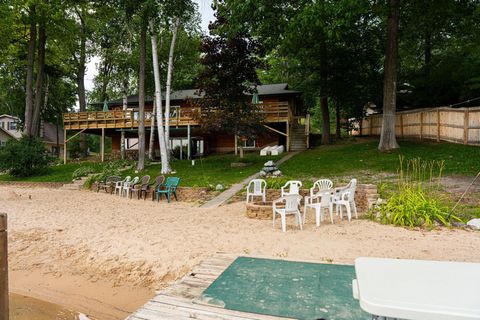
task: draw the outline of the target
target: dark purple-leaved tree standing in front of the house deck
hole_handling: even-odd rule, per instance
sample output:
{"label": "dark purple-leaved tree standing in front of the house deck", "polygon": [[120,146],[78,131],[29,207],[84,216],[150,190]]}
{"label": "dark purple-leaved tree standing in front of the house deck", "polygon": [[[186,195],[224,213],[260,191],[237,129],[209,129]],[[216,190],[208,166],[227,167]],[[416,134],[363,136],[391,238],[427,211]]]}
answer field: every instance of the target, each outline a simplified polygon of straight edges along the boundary
{"label": "dark purple-leaved tree standing in front of the house deck", "polygon": [[[200,91],[205,94],[197,104],[201,108],[200,124],[207,132],[233,134],[242,140],[261,131],[261,115],[245,93],[255,93],[261,66],[261,47],[249,34],[226,34],[222,26],[228,23],[224,12],[217,11],[217,20],[210,25],[213,36],[202,42]],[[243,148],[240,144],[240,156]]]}

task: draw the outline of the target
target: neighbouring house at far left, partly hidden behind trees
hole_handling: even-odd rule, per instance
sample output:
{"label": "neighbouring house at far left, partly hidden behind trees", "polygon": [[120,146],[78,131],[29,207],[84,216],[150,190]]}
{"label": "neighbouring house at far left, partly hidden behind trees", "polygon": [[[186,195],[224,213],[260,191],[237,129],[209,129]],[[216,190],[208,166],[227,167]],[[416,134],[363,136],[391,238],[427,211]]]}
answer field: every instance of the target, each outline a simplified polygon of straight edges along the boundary
{"label": "neighbouring house at far left, partly hidden behind trees", "polygon": [[[20,139],[20,119],[8,114],[0,115],[0,146],[8,140]],[[63,150],[63,128],[52,123],[42,122],[40,124],[40,138],[52,155],[59,155]]]}

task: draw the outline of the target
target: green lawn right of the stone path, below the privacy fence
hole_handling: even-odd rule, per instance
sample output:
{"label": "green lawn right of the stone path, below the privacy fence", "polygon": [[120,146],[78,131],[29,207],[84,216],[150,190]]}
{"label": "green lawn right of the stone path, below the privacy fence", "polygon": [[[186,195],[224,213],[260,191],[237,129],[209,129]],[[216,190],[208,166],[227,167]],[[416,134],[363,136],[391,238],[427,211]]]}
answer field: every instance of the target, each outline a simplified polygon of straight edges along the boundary
{"label": "green lawn right of the stone path, below the privacy fence", "polygon": [[321,177],[366,176],[396,173],[399,155],[406,159],[444,160],[445,174],[474,176],[480,170],[480,147],[446,142],[400,141],[391,153],[377,150],[378,140],[362,140],[321,146],[293,157],[280,169],[287,178],[311,180]]}

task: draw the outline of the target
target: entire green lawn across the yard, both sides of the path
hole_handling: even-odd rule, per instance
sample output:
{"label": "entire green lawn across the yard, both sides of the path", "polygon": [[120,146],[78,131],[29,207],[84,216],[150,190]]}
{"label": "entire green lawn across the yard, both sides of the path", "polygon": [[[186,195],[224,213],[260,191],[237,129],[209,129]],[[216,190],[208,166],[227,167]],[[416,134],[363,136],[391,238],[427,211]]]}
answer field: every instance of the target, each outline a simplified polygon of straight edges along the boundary
{"label": "entire green lawn across the yard, both sides of the path", "polygon": [[[480,170],[480,147],[464,146],[452,143],[419,141],[400,141],[400,149],[391,153],[380,153],[377,140],[358,140],[345,144],[321,146],[298,154],[285,162],[280,169],[286,179],[300,179],[309,185],[317,178],[346,180],[350,176],[362,178],[364,182],[377,181],[382,174],[397,172],[399,155],[405,158],[421,157],[426,160],[444,160],[445,174],[474,176]],[[231,168],[230,163],[238,160],[233,154],[211,155],[197,159],[195,166],[189,160],[174,160],[174,174],[182,179],[182,186],[209,186],[223,184],[229,186],[259,171],[267,160],[277,157],[260,157],[258,153],[247,153],[245,161],[251,165],[243,168]],[[91,166],[101,171],[103,164],[92,162],[69,163],[50,167],[45,173],[28,178],[14,178],[0,175],[0,181],[42,181],[68,182],[72,173],[81,166]],[[135,174],[134,169],[125,172],[129,175],[149,174],[154,178],[160,172],[160,164],[146,167],[144,172]],[[367,181],[365,181],[367,180]]]}

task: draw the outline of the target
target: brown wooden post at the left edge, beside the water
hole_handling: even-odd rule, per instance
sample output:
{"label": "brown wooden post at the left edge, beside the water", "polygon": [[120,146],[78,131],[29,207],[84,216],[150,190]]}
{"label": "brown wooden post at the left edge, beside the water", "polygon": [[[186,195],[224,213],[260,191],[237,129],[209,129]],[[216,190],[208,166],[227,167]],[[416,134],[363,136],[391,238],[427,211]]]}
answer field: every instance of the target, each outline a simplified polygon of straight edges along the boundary
{"label": "brown wooden post at the left edge, beside the water", "polygon": [[8,320],[7,214],[0,213],[0,319]]}

